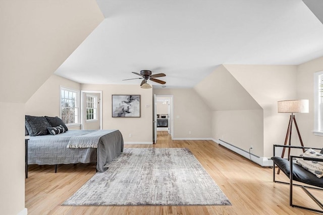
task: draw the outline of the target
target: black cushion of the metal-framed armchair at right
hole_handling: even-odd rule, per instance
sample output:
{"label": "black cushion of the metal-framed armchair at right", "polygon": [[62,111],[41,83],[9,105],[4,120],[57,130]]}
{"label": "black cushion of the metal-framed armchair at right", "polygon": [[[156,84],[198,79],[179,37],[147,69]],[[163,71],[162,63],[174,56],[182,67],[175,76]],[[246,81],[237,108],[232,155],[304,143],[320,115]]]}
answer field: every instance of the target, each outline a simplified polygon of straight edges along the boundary
{"label": "black cushion of the metal-framed armchair at right", "polygon": [[[285,173],[285,175],[289,178],[289,160],[277,156],[272,157],[272,160],[279,167],[279,169],[281,169],[283,173]],[[312,173],[308,172],[307,170],[295,163],[293,163],[293,180],[323,188],[323,178],[317,178],[315,175],[313,175]]]}

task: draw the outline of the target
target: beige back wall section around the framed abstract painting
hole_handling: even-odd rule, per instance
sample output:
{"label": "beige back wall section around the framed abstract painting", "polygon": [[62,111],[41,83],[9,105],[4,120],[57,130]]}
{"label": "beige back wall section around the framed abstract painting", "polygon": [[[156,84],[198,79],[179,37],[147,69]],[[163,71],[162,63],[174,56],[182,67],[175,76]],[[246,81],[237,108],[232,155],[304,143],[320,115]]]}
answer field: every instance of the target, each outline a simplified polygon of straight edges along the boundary
{"label": "beige back wall section around the framed abstract painting", "polygon": [[[152,88],[142,89],[138,85],[82,84],[82,90],[102,91],[103,129],[118,129],[125,142],[152,143]],[[112,95],[140,95],[139,118],[112,117]],[[146,108],[146,105],[148,107]],[[132,137],[129,137],[131,134]]]}

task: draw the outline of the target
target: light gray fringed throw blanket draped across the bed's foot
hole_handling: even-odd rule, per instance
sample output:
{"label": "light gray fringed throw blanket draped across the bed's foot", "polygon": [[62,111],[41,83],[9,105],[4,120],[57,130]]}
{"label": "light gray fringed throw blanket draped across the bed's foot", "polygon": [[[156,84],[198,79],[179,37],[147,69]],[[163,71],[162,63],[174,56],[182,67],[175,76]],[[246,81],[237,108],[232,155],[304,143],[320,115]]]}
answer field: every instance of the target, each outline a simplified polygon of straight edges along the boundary
{"label": "light gray fringed throw blanket draped across the bed's foot", "polygon": [[68,148],[97,148],[99,139],[105,135],[110,134],[116,130],[97,130],[91,133],[71,137]]}

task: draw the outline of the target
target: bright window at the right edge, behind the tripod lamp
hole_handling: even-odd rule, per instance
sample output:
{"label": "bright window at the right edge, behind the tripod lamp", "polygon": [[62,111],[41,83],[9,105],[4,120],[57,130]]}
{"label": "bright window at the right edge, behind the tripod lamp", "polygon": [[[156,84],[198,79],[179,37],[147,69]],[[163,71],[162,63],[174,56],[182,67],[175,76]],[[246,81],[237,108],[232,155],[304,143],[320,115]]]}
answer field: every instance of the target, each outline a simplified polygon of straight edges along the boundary
{"label": "bright window at the right edge, behind the tripod lamp", "polygon": [[314,134],[323,136],[323,71],[314,73]]}

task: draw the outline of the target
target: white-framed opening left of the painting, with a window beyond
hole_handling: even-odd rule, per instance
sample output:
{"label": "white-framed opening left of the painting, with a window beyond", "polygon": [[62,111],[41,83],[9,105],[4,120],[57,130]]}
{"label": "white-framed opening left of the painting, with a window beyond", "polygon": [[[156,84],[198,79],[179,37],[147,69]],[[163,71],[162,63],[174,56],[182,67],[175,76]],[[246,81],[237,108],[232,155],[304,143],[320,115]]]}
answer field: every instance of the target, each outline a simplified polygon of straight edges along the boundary
{"label": "white-framed opening left of the painting, with a window beyond", "polygon": [[81,129],[102,129],[102,91],[81,90]]}

